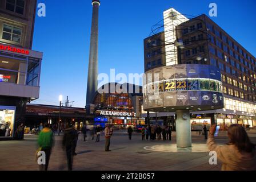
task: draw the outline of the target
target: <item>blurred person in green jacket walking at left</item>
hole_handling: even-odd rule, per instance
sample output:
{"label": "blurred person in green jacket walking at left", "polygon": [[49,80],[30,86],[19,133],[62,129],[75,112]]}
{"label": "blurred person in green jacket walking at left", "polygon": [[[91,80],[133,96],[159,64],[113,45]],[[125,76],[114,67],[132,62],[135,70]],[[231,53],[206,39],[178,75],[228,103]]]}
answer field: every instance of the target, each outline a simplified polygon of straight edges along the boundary
{"label": "blurred person in green jacket walking at left", "polygon": [[54,146],[53,131],[49,128],[48,123],[43,125],[42,131],[39,133],[38,146],[41,151],[45,152],[45,164],[39,166],[39,169],[47,171],[51,155],[51,148]]}

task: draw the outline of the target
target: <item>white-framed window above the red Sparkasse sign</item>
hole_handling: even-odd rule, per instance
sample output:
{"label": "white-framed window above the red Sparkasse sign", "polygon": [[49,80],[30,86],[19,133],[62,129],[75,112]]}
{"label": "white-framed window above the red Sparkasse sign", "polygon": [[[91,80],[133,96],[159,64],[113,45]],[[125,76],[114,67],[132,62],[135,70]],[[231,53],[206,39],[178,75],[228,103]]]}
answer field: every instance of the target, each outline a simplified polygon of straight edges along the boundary
{"label": "white-framed window above the red Sparkasse sign", "polygon": [[3,24],[2,39],[9,40],[15,43],[21,43],[22,29],[11,26],[10,24]]}

